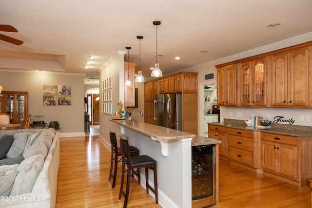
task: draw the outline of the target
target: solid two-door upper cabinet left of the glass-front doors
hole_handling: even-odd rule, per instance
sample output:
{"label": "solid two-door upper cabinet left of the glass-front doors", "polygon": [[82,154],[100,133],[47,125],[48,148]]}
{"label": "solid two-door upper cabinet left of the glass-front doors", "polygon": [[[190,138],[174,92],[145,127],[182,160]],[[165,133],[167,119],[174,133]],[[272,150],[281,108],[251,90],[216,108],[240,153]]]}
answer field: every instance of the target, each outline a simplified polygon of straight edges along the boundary
{"label": "solid two-door upper cabinet left of the glass-front doors", "polygon": [[236,106],[236,64],[217,69],[217,105]]}

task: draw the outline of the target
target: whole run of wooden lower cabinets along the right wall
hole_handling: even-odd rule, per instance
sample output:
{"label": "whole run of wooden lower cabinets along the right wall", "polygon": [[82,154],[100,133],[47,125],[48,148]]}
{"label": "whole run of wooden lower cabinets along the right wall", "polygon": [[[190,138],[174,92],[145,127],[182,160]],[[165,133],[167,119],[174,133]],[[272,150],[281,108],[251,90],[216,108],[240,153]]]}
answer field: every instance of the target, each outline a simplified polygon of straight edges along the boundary
{"label": "whole run of wooden lower cabinets along the right wall", "polygon": [[312,178],[312,136],[236,129],[208,124],[208,135],[222,141],[220,158],[299,188]]}

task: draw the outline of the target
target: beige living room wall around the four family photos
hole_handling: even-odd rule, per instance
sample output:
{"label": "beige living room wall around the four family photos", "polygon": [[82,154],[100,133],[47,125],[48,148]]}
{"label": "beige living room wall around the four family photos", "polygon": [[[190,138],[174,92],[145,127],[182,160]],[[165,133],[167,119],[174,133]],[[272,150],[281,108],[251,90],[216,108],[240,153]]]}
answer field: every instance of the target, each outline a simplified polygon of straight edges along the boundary
{"label": "beige living room wall around the four family photos", "polygon": [[[41,117],[45,123],[59,121],[61,137],[84,136],[84,75],[0,70],[0,85],[3,91],[26,91],[28,113],[32,120]],[[70,85],[72,104],[70,106],[43,106],[43,85]]]}

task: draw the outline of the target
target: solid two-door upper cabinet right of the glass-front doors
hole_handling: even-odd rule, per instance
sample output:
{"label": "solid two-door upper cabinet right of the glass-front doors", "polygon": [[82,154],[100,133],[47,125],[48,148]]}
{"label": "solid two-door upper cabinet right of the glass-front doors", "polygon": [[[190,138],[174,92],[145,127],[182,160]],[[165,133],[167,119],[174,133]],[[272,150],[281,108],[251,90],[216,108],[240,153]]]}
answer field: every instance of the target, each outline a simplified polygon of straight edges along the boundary
{"label": "solid two-door upper cabinet right of the glass-front doors", "polygon": [[272,56],[273,107],[312,107],[309,48],[311,50],[311,47],[304,47]]}

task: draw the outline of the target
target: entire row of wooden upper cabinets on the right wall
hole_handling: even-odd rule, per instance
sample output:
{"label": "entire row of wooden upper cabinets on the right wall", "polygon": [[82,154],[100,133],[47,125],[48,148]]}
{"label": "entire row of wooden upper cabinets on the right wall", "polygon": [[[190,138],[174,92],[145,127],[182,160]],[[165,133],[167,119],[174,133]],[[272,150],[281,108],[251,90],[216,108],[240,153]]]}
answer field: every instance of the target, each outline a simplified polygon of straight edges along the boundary
{"label": "entire row of wooden upper cabinets on the right wall", "polygon": [[312,41],[215,67],[217,105],[312,107]]}

